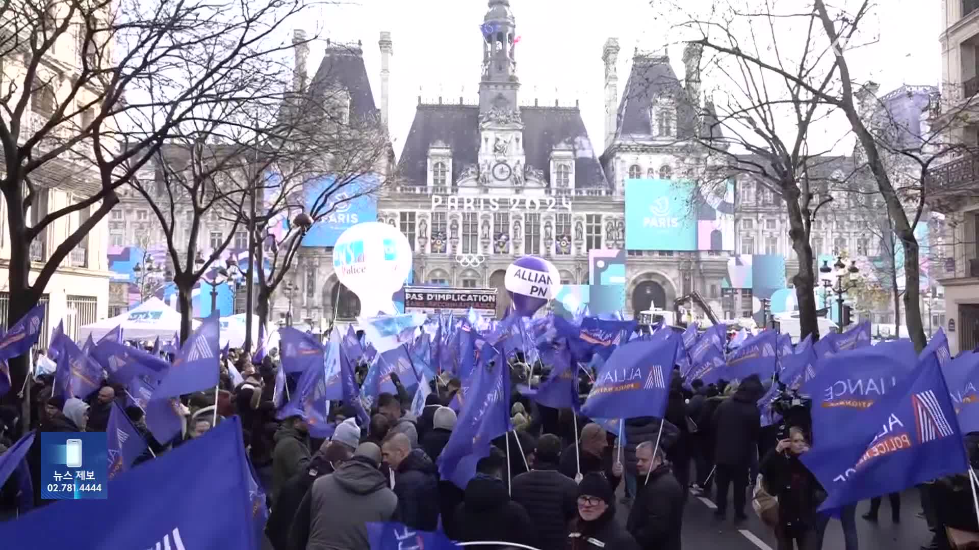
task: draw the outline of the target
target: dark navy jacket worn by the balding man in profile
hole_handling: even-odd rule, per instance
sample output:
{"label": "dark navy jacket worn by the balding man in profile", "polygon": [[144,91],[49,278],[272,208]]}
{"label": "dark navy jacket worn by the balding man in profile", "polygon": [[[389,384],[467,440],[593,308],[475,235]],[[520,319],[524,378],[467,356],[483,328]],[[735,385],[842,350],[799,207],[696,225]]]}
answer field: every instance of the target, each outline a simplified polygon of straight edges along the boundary
{"label": "dark navy jacket worn by the balding man in profile", "polygon": [[419,530],[439,526],[439,469],[421,449],[412,450],[395,472],[401,523]]}

